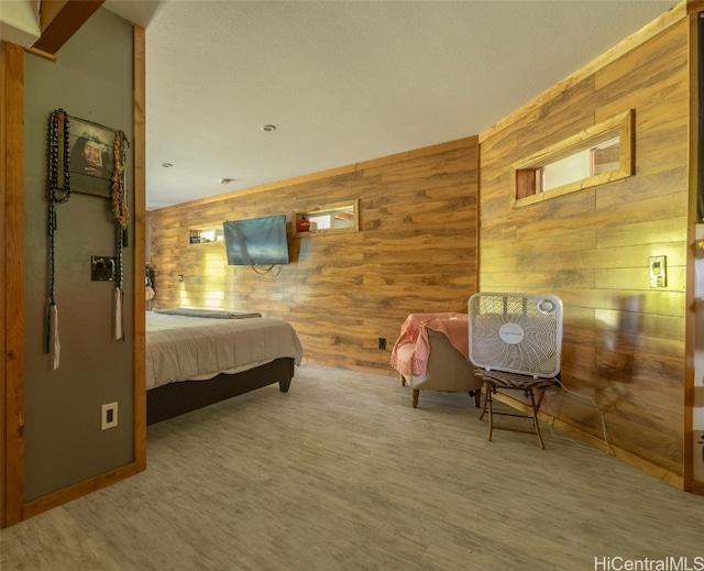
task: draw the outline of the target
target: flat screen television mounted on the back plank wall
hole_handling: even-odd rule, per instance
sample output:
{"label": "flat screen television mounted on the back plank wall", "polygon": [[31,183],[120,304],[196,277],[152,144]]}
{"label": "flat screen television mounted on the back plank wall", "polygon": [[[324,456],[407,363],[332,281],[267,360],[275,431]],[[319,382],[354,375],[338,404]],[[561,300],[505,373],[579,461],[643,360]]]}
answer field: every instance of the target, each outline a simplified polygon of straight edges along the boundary
{"label": "flat screen television mounted on the back plank wall", "polygon": [[229,265],[288,264],[286,216],[223,222]]}

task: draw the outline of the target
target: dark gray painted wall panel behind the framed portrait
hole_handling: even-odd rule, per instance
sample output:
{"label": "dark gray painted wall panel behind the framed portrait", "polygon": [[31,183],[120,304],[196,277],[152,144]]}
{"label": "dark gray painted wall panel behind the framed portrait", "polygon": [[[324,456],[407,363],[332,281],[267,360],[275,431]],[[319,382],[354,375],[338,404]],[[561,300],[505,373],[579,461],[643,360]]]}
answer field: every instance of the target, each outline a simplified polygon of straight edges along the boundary
{"label": "dark gray painted wall panel behind the framed portrait", "polygon": [[[124,250],[125,341],[113,339],[111,282],[92,282],[91,255],[117,253],[108,198],[73,193],[57,206],[56,304],[61,366],[44,353],[48,293],[47,125],[58,108],[132,141],[132,25],[100,9],[52,63],[25,55],[25,502],[133,461],[133,253]],[[132,151],[128,188],[133,188]],[[134,212],[133,196],[130,196]],[[131,215],[131,220],[133,216]],[[119,403],[101,430],[101,405]]]}

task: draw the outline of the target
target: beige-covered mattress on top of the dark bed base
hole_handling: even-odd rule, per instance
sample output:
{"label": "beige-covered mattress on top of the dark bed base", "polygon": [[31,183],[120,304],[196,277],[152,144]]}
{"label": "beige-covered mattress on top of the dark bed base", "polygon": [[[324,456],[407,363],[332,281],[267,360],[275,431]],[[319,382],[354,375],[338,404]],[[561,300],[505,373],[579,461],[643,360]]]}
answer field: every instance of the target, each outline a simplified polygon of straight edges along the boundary
{"label": "beige-covered mattress on top of the dark bed base", "polygon": [[271,317],[210,319],[146,314],[146,388],[204,381],[279,358],[302,359],[293,326]]}

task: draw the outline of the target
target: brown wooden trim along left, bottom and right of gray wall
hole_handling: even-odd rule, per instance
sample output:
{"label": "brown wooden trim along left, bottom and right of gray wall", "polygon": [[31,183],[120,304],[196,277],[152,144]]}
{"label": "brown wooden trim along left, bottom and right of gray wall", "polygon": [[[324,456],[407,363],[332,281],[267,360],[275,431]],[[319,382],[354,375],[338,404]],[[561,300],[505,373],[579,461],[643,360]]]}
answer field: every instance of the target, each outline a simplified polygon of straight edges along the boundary
{"label": "brown wooden trim along left, bottom and right of gray wall", "polygon": [[127,465],[24,502],[24,48],[0,42],[0,528],[146,468],[144,331],[145,33],[133,29],[134,458]]}

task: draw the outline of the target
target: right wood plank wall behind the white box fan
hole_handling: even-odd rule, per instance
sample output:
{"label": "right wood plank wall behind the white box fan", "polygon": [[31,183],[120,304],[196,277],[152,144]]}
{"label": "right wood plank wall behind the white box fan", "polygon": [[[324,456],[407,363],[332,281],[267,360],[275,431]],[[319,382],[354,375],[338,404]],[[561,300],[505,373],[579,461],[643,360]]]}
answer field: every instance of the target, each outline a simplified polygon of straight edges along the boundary
{"label": "right wood plank wall behind the white box fan", "polygon": [[[688,24],[480,135],[480,288],[564,301],[562,380],[546,410],[681,484],[688,235]],[[512,209],[509,165],[635,109],[635,176]],[[649,287],[649,256],[668,284]],[[588,437],[587,437],[588,438]]]}

